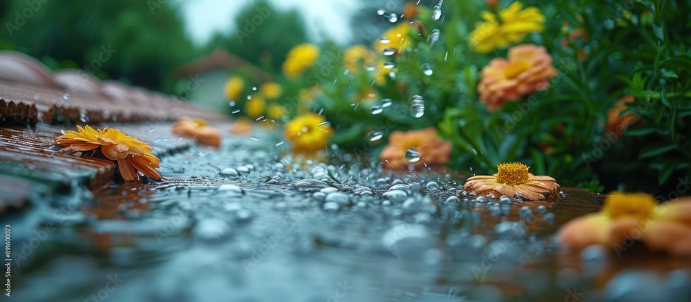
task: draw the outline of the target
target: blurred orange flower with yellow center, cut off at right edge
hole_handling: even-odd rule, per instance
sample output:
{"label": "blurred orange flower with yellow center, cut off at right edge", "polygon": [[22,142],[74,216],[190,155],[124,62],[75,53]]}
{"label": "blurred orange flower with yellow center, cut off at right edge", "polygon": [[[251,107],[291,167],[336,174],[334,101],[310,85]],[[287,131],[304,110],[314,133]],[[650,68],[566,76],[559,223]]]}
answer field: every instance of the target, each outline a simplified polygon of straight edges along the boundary
{"label": "blurred orange flower with yellow center, cut off at right edge", "polygon": [[599,244],[621,256],[635,240],[652,252],[691,258],[691,197],[658,205],[648,194],[613,192],[601,211],[570,220],[558,237],[575,251]]}

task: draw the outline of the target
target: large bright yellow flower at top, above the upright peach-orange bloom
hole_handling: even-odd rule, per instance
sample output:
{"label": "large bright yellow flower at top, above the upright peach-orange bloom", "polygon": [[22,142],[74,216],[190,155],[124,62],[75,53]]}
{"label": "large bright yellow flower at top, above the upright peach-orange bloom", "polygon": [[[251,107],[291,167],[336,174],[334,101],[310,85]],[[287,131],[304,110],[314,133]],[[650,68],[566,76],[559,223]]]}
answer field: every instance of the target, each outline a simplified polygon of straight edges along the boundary
{"label": "large bright yellow flower at top, above the upright peach-orange bloom", "polygon": [[520,2],[514,2],[499,12],[499,19],[491,12],[482,12],[484,21],[475,24],[470,33],[471,48],[478,53],[491,53],[522,40],[531,32],[545,30],[545,16],[540,9],[522,9]]}

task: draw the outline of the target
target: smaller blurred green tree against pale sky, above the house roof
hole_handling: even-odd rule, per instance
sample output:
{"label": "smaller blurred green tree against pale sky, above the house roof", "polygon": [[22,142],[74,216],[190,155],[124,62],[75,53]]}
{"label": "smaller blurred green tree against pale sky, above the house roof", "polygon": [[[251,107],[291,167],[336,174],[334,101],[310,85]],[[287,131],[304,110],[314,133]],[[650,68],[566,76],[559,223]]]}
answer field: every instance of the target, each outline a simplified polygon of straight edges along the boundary
{"label": "smaller blurred green tree against pale sky, above the house roof", "polygon": [[[228,34],[216,33],[207,50],[223,47],[230,53],[259,66],[281,70],[290,48],[307,39],[305,25],[296,10],[279,10],[269,1],[245,6]],[[270,56],[269,56],[270,55]]]}

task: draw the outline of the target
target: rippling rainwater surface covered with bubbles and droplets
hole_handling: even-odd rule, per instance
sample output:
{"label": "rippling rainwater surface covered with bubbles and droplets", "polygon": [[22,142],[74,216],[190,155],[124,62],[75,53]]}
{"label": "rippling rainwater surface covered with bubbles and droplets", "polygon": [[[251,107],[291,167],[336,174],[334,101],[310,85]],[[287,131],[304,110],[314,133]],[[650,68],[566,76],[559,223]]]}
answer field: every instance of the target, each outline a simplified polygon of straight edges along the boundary
{"label": "rippling rainwater surface covered with bubbles and droplets", "polygon": [[577,189],[478,199],[458,191],[462,173],[392,173],[334,149],[293,158],[266,132],[161,166],[158,184],[77,189],[8,216],[12,299],[677,301],[691,281],[689,263],[562,255],[558,227],[603,200]]}

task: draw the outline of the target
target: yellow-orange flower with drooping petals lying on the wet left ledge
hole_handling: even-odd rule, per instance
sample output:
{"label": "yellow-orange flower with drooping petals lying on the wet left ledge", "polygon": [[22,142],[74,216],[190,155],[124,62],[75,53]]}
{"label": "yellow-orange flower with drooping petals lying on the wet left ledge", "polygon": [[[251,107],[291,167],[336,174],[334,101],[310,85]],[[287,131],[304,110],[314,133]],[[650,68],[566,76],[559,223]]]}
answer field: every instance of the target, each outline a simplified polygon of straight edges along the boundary
{"label": "yellow-orange flower with drooping petals lying on the wet left ledge", "polygon": [[151,154],[151,146],[117,129],[93,129],[91,126],[77,126],[78,131],[65,131],[55,139],[55,144],[65,147],[64,151],[91,151],[100,149],[109,160],[117,162],[117,168],[124,180],[138,180],[137,171],[160,181],[158,172],[160,160]]}

